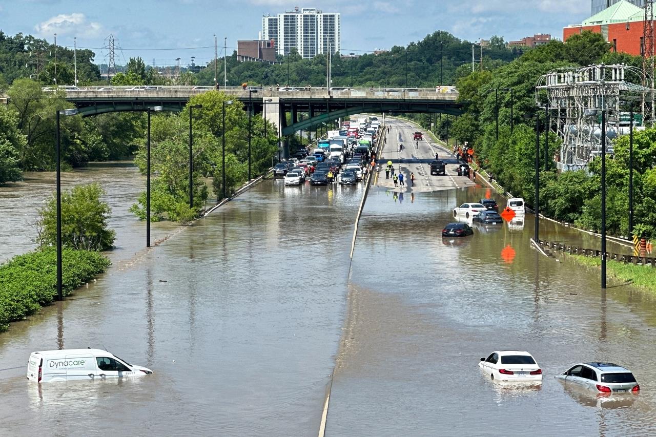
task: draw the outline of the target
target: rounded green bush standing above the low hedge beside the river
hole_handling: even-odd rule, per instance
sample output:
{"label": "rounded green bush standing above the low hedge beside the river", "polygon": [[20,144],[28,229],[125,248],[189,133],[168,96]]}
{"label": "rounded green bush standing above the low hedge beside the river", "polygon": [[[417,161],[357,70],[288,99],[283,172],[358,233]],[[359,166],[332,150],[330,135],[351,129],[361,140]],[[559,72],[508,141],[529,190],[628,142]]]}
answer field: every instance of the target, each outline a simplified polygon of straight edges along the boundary
{"label": "rounded green bush standing above the low hedge beside the river", "polygon": [[[78,185],[62,192],[62,245],[73,249],[104,251],[113,247],[115,232],[107,220],[112,210],[100,200],[105,192],[98,184]],[[37,243],[56,244],[56,198],[52,196],[39,209]]]}

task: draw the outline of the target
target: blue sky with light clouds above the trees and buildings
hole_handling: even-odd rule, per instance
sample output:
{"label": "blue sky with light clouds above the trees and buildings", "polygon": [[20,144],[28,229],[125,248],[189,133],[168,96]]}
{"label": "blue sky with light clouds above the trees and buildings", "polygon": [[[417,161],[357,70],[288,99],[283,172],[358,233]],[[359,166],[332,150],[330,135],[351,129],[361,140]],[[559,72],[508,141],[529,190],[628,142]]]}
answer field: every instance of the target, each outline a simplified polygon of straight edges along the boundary
{"label": "blue sky with light clouds above the trees and buildings", "polygon": [[445,30],[467,41],[506,41],[550,33],[562,39],[562,28],[590,16],[590,0],[14,0],[0,3],[0,30],[22,32],[57,45],[93,49],[94,62],[106,63],[103,49],[112,34],[116,64],[141,56],[158,66],[203,65],[218,56],[224,38],[232,54],[237,39],[257,39],[263,14],[316,7],[341,14],[342,52],[364,53],[420,41]]}

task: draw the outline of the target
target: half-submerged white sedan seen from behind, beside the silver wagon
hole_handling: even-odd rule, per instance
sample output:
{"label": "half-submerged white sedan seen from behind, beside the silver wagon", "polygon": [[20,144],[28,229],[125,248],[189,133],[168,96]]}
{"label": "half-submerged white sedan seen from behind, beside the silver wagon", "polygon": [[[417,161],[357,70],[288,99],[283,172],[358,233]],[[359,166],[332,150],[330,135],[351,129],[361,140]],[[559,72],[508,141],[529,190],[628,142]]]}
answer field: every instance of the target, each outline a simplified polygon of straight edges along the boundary
{"label": "half-submerged white sedan seen from behind, beside the silver wagon", "polygon": [[497,381],[542,381],[542,369],[525,351],[495,350],[478,367]]}

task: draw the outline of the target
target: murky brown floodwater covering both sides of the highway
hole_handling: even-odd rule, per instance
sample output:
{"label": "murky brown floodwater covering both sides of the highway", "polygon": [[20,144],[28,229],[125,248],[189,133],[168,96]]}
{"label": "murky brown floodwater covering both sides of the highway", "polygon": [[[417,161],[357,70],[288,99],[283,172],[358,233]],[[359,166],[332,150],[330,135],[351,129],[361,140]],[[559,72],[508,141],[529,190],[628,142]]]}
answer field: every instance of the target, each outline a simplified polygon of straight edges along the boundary
{"label": "murky brown floodwater covering both sides of the highway", "polygon": [[[426,143],[409,153],[430,156]],[[328,436],[654,434],[655,298],[613,281],[602,293],[598,272],[539,255],[532,215],[441,238],[453,207],[496,196],[446,184],[373,186],[352,264],[361,184],[265,180],[150,251],[143,224],[119,220],[119,241],[135,229],[125,262],[0,334],[0,435],[314,436],[333,369]],[[599,244],[546,220],[540,232]],[[155,373],[26,380],[30,352],[87,346]],[[500,349],[531,352],[543,383],[483,377],[480,358]],[[596,360],[631,369],[640,394],[554,379]]]}

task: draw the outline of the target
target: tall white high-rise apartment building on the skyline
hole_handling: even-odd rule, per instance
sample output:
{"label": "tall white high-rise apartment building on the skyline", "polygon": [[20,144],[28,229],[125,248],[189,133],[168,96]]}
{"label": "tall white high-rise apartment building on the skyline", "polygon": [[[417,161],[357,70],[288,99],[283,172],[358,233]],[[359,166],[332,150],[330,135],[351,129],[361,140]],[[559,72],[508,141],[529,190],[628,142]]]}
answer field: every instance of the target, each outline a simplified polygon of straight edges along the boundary
{"label": "tall white high-rise apartment building on the skyline", "polygon": [[262,17],[262,39],[274,39],[278,54],[296,49],[303,58],[340,50],[340,14],[295,7],[291,12]]}

